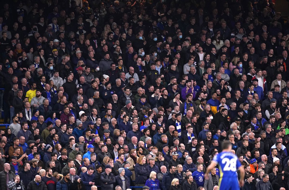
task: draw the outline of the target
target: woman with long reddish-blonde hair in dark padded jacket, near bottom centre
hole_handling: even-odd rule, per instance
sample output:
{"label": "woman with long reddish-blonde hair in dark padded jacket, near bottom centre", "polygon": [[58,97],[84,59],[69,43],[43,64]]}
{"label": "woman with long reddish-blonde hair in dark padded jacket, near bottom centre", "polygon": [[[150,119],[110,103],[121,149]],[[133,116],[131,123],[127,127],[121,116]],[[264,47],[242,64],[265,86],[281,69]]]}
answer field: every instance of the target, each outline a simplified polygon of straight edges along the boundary
{"label": "woman with long reddish-blonde hair in dark padded jacket, near bottom centre", "polygon": [[134,167],[134,171],[136,174],[136,186],[144,186],[145,182],[149,178],[150,172],[147,170],[146,166],[144,165],[147,162],[147,159],[144,155],[141,155],[137,163]]}

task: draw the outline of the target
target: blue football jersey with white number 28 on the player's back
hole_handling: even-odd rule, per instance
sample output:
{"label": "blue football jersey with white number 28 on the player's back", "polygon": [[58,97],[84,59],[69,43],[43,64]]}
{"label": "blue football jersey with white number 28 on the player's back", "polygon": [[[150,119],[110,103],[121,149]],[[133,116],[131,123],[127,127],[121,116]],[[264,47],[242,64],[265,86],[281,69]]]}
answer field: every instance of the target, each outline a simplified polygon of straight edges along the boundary
{"label": "blue football jersey with white number 28 on the player's back", "polygon": [[238,176],[236,174],[237,169],[241,166],[236,155],[231,152],[221,152],[214,156],[213,161],[217,162],[220,169],[220,177],[229,177],[236,178],[238,180]]}

